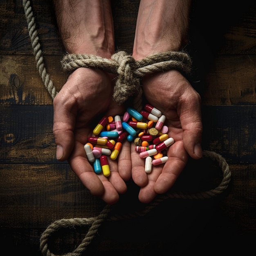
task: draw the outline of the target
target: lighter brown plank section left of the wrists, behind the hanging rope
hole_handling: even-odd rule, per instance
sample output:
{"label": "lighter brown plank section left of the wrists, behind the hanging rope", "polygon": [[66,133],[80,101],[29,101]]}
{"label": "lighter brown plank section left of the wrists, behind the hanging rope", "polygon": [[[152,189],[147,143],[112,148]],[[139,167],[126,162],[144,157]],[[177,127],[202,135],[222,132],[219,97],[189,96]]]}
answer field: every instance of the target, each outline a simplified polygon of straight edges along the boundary
{"label": "lighter brown plank section left of the wrists, behind the hanging rope", "polygon": [[[67,80],[61,68],[62,56],[45,56],[45,68],[57,91]],[[51,105],[52,97],[45,88],[32,55],[0,56],[0,104]]]}

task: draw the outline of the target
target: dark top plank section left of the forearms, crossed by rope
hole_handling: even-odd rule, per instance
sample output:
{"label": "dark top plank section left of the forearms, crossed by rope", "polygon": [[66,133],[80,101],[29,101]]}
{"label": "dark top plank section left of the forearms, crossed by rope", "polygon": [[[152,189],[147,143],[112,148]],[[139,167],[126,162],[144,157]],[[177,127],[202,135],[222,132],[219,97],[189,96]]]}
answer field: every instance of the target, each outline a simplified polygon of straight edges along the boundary
{"label": "dark top plank section left of the forearms, crossed by rope", "polygon": [[[62,54],[53,19],[51,0],[30,1],[44,54]],[[3,0],[0,5],[0,54],[32,54],[22,1]]]}

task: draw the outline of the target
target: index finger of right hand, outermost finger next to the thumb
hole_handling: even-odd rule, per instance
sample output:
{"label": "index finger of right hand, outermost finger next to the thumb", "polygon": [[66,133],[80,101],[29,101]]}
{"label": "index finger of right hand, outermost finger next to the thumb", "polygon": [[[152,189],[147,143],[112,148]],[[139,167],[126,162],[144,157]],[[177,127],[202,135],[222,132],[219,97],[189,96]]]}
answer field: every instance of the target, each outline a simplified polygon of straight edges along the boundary
{"label": "index finger of right hand, outermost finger next to the thumb", "polygon": [[167,154],[168,160],[165,164],[162,164],[162,173],[157,178],[154,186],[155,192],[158,194],[166,193],[171,189],[188,161],[188,154],[183,141],[175,142],[168,149]]}

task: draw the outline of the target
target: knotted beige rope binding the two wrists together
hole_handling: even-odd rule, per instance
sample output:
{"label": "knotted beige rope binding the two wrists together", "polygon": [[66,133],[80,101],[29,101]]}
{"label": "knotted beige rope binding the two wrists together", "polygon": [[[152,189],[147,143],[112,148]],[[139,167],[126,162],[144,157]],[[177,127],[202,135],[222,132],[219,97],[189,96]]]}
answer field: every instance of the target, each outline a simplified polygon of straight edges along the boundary
{"label": "knotted beige rope binding the two wrists together", "polygon": [[143,92],[140,79],[144,75],[171,69],[189,74],[192,62],[185,52],[161,52],[140,61],[135,61],[132,56],[120,51],[113,54],[111,59],[91,54],[67,54],[61,64],[63,70],[68,72],[72,72],[79,67],[91,67],[117,74],[113,99],[121,105],[135,94],[134,108],[141,110]]}

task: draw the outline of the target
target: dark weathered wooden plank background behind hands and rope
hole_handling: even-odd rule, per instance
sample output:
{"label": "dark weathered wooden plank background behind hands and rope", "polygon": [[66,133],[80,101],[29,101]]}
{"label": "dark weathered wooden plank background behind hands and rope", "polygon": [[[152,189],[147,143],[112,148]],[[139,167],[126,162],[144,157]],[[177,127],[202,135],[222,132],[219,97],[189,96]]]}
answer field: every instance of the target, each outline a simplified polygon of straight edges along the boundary
{"label": "dark weathered wooden plank background behind hands and rope", "polygon": [[[52,3],[32,2],[47,72],[60,90],[67,76]],[[203,149],[227,160],[229,189],[217,199],[167,199],[146,216],[106,221],[89,255],[251,255],[255,249],[256,3],[212,2],[194,1],[187,48],[196,69],[191,83],[203,88]],[[138,4],[113,1],[116,46],[128,53]],[[1,249],[41,255],[40,235],[53,221],[95,217],[105,204],[90,195],[67,162],[55,159],[52,99],[36,68],[22,1],[0,1],[0,117]],[[208,190],[220,175],[208,159],[190,160],[174,189]],[[138,188],[128,188],[114,214],[144,209]],[[86,228],[61,230],[52,252],[72,251],[85,233]]]}

